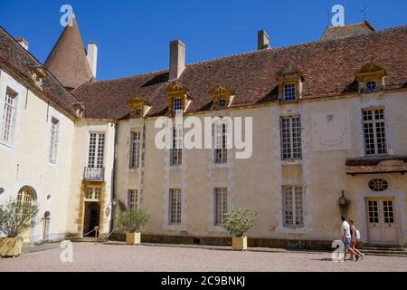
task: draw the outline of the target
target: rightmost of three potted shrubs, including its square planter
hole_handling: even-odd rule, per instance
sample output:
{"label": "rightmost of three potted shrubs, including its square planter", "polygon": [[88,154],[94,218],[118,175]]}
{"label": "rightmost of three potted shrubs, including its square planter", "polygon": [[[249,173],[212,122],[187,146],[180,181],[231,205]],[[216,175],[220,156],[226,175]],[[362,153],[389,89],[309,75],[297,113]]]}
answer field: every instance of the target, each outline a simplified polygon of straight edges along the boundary
{"label": "rightmost of three potted shrubs, including its square planter", "polygon": [[245,251],[245,234],[254,226],[256,213],[249,208],[237,208],[224,214],[222,227],[232,236],[232,250]]}

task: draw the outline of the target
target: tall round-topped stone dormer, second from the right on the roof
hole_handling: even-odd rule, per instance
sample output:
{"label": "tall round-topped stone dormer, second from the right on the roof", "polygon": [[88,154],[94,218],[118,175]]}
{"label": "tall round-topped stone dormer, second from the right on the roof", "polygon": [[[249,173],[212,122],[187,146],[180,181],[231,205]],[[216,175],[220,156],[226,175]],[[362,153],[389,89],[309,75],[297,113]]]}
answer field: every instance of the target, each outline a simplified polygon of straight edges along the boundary
{"label": "tall round-topped stone dormer, second from the right on the roof", "polygon": [[297,102],[302,97],[304,78],[298,68],[287,65],[277,74],[279,81],[279,102]]}

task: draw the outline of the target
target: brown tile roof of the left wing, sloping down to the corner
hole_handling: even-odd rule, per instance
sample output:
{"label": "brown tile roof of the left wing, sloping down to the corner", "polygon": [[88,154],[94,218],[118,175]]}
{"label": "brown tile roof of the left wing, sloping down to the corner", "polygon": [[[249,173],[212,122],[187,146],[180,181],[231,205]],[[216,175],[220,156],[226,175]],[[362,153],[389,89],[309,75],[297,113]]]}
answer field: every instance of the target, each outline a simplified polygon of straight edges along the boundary
{"label": "brown tile roof of the left wing, sloping down to the corner", "polygon": [[[0,27],[0,63],[4,63],[5,66],[14,70],[14,73],[18,73],[25,81],[31,83],[32,87],[34,84],[30,68],[42,65],[10,34],[7,34],[3,27]],[[43,79],[43,94],[61,106],[62,109],[71,113],[72,116],[76,115],[72,103],[78,102],[78,100],[63,88],[62,84],[52,76],[52,73],[46,73]]]}

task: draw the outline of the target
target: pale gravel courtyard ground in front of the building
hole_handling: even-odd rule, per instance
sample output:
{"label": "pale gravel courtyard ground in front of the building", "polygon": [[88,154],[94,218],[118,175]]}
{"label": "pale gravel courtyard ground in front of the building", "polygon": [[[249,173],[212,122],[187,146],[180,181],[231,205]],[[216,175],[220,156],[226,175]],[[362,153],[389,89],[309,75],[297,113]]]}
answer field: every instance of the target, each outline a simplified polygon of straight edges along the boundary
{"label": "pale gravel courtyard ground in front of the building", "polygon": [[330,253],[232,252],[189,247],[73,244],[73,262],[61,248],[0,258],[4,271],[407,271],[407,257],[365,256],[334,263]]}

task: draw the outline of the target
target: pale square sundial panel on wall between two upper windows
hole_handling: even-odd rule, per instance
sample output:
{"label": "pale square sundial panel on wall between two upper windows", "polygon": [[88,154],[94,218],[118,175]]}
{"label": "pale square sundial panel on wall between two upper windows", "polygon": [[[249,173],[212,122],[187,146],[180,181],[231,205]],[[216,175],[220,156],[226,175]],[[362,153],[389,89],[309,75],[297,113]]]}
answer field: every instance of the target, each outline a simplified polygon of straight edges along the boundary
{"label": "pale square sundial panel on wall between two upper windows", "polygon": [[348,111],[315,113],[312,127],[314,150],[350,150]]}

